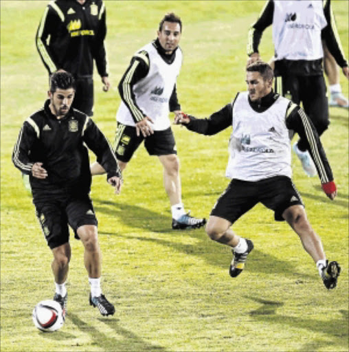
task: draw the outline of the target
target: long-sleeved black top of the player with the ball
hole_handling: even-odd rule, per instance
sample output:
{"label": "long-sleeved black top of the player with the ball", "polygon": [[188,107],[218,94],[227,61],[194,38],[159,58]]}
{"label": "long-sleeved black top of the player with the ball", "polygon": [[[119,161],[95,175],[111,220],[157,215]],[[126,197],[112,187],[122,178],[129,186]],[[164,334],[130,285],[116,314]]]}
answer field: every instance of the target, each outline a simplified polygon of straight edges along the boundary
{"label": "long-sleeved black top of the player with the ball", "polygon": [[[45,197],[47,190],[65,188],[67,192],[89,192],[91,172],[86,146],[107,172],[107,178],[121,177],[121,171],[109,142],[98,126],[85,113],[70,109],[58,119],[49,109],[49,100],[43,109],[25,120],[12,153],[14,166],[30,175],[34,199]],[[42,162],[47,170],[45,179],[32,176],[35,162]]]}

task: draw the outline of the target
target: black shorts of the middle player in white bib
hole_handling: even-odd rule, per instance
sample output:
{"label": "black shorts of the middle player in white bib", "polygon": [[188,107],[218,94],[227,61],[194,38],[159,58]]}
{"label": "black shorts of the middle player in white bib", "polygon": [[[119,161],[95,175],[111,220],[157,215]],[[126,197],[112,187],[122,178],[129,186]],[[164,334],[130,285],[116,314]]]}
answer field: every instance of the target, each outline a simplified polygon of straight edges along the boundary
{"label": "black shorts of the middle player in white bib", "polygon": [[129,162],[143,140],[149,155],[177,154],[175,136],[170,127],[144,138],[142,134],[137,136],[135,127],[117,122],[113,144],[117,159]]}

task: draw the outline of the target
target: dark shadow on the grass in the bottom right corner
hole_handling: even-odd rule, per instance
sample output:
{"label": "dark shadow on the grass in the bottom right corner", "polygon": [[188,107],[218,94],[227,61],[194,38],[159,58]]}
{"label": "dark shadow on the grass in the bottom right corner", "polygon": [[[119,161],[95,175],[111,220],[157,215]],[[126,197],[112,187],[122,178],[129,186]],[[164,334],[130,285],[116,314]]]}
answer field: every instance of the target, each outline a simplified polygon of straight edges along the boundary
{"label": "dark shadow on the grass in the bottom right corner", "polygon": [[319,351],[319,349],[326,349],[325,345],[328,345],[328,351],[334,351],[334,346],[341,346],[344,349],[348,348],[348,311],[340,310],[339,312],[343,317],[336,320],[319,320],[310,314],[309,318],[304,318],[306,314],[302,316],[285,316],[279,315],[277,312],[278,308],[284,305],[282,302],[263,300],[251,296],[246,296],[246,298],[261,304],[260,308],[249,312],[256,320],[267,323],[267,325],[285,325],[286,327],[305,329],[328,337],[328,340],[324,338],[312,340],[304,344],[298,351]]}

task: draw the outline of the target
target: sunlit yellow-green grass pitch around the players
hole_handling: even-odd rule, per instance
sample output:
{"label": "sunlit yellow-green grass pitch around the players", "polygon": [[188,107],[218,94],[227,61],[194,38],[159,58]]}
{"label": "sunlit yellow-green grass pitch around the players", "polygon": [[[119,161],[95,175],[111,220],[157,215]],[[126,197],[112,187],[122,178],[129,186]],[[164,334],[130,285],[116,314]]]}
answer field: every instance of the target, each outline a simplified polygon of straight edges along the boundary
{"label": "sunlit yellow-green grass pitch around the players", "polygon": [[[157,158],[139,148],[124,173],[122,195],[93,179],[99,220],[102,287],[112,318],[89,307],[82,245],[71,240],[67,321],[56,333],[32,324],[32,309],[52,298],[52,256],[11,153],[23,120],[45,100],[47,73],[34,45],[46,1],[1,0],[1,351],[348,351],[348,110],[330,109],[322,142],[339,194],[331,202],[319,179],[293,157],[294,182],[329,259],[341,263],[328,292],[297,236],[257,206],[234,229],[253,239],[245,272],[228,275],[228,248],[203,229],[174,232]],[[95,76],[95,122],[113,140],[117,93],[135,50],[155,38],[165,12],[183,20],[184,63],[178,80],[184,111],[207,116],[245,89],[247,30],[264,1],[106,1],[111,83]],[[348,2],[333,1],[348,57]],[[272,56],[271,30],[261,44]],[[348,96],[348,81],[341,77]],[[228,184],[228,129],[203,137],[174,126],[183,201],[208,217]]]}

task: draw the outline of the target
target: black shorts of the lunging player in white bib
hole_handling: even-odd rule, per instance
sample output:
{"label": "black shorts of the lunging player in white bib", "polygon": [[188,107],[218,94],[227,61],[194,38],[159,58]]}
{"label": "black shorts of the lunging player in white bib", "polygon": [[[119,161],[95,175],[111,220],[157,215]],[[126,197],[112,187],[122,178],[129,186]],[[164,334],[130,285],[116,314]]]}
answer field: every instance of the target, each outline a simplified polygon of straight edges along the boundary
{"label": "black shorts of the lunging player in white bib", "polygon": [[290,206],[304,206],[289,177],[275,176],[256,182],[233,179],[218,198],[211,215],[234,223],[257,203],[273,210],[276,221],[284,221],[282,213]]}

